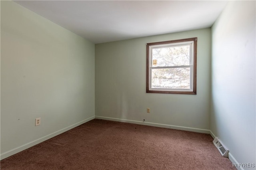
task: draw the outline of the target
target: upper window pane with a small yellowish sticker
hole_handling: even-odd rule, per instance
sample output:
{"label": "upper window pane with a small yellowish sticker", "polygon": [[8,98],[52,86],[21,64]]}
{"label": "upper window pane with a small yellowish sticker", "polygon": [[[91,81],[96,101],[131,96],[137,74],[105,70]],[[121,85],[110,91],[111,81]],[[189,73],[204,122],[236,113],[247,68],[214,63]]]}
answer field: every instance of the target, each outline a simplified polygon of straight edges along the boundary
{"label": "upper window pane with a small yellowish sticker", "polygon": [[152,67],[190,65],[190,45],[152,49]]}

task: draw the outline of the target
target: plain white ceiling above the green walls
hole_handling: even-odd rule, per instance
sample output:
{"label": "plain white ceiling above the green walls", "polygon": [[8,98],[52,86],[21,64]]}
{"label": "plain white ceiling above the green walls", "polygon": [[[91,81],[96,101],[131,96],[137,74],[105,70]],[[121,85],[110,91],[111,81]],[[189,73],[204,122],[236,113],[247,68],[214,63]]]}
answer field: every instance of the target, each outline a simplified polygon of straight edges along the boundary
{"label": "plain white ceiling above the green walls", "polygon": [[93,43],[209,28],[227,1],[41,1],[16,3]]}

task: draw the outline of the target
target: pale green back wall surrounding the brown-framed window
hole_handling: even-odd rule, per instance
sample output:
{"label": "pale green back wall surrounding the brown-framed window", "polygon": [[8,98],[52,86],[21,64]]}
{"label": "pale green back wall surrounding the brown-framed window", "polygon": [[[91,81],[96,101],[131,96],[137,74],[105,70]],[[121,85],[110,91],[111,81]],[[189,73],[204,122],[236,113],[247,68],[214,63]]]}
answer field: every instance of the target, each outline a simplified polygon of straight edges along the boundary
{"label": "pale green back wall surrounding the brown-framed window", "polygon": [[[197,95],[146,93],[146,43],[193,37],[198,37]],[[95,51],[96,116],[210,128],[210,28],[100,43]]]}

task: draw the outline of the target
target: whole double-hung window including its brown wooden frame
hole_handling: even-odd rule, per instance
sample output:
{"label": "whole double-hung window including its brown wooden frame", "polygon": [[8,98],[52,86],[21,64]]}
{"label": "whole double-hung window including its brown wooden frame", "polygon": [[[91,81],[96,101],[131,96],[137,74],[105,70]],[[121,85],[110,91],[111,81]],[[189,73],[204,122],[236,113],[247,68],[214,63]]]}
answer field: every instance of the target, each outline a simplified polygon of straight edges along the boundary
{"label": "whole double-hung window including its brown wooden frame", "polygon": [[196,94],[197,38],[147,43],[147,93]]}

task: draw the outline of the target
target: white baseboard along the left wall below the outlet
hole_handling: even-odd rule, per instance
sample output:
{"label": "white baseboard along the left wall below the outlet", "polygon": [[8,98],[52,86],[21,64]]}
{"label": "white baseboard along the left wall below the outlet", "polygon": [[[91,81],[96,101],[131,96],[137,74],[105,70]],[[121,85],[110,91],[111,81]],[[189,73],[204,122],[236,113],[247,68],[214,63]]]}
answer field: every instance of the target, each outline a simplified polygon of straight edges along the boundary
{"label": "white baseboard along the left wall below the outlet", "polygon": [[59,135],[59,134],[62,134],[63,132],[66,132],[66,131],[68,131],[68,130],[74,128],[74,127],[77,127],[77,126],[79,126],[79,125],[82,125],[83,123],[86,123],[86,122],[88,122],[88,121],[90,121],[90,120],[92,120],[92,119],[94,119],[94,116],[89,117],[88,119],[85,119],[85,120],[80,121],[80,122],[78,122],[78,123],[75,123],[75,124],[73,124],[73,125],[70,125],[69,127],[66,127],[66,128],[60,129],[60,130],[58,130],[58,131],[56,131],[56,132],[53,132],[53,133],[51,133],[51,134],[48,134],[48,135],[46,135],[46,136],[44,136],[44,137],[42,137],[42,138],[36,139],[36,140],[34,140],[34,141],[32,141],[32,142],[26,143],[26,144],[24,144],[24,145],[22,145],[22,146],[19,146],[19,147],[17,147],[17,148],[14,148],[14,149],[12,149],[12,150],[9,150],[9,151],[7,151],[7,152],[4,152],[4,153],[2,153],[2,154],[0,155],[0,160],[5,159],[5,158],[8,158],[9,156],[12,156],[12,155],[14,155],[14,154],[16,154],[16,153],[18,153],[18,152],[21,152],[22,150],[25,150],[25,149],[27,149],[27,148],[30,148],[30,147],[36,145],[36,144],[39,144],[39,143],[41,143],[41,142],[44,142],[45,140],[48,140],[48,139],[50,139],[50,138],[52,138],[52,137],[54,137],[54,136],[57,136],[57,135]]}

